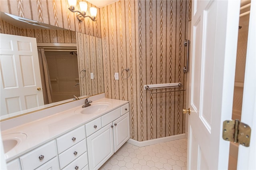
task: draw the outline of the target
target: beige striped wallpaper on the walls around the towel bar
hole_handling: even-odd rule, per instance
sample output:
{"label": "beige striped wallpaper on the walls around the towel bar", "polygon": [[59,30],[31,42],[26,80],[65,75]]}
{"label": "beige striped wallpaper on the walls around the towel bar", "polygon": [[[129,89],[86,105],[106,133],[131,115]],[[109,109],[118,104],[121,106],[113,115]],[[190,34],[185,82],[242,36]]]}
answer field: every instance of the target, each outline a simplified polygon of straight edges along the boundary
{"label": "beige striped wallpaper on the walls around the towel bar", "polygon": [[[105,94],[130,102],[135,140],[185,132],[186,91],[150,95],[144,85],[186,85],[183,42],[188,38],[189,6],[190,1],[122,0],[100,8]],[[130,77],[122,79],[126,67]],[[120,74],[119,80],[114,73]]]}

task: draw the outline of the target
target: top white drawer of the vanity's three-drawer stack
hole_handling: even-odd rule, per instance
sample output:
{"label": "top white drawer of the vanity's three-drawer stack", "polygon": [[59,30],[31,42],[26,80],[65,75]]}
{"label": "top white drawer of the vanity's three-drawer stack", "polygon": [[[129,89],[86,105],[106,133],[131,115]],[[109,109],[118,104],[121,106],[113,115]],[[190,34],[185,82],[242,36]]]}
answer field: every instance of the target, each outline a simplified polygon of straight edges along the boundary
{"label": "top white drawer of the vanity's three-drawer stack", "polygon": [[60,136],[59,138],[56,139],[58,153],[60,154],[61,152],[70,148],[74,144],[77,144],[84,138],[85,138],[84,126],[76,128],[75,130],[72,130],[72,131]]}

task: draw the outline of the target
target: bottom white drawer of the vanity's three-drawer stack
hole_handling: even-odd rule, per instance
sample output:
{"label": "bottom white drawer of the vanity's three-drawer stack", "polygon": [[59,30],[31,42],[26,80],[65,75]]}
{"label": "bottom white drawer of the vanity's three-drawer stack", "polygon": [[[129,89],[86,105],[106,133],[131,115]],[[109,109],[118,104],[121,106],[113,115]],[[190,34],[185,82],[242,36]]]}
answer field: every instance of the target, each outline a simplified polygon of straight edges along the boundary
{"label": "bottom white drawer of the vanity's three-drawer stack", "polygon": [[71,162],[68,166],[63,168],[63,170],[82,170],[84,166],[88,164],[88,159],[87,159],[87,152],[79,156],[76,160]]}

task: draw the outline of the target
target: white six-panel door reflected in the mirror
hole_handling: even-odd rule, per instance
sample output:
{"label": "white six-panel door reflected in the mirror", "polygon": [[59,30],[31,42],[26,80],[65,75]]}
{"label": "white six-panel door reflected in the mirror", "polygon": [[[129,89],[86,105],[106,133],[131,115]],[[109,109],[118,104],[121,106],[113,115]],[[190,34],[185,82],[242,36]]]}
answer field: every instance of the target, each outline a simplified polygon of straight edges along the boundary
{"label": "white six-panel door reflected in the mirror", "polygon": [[44,105],[36,38],[0,34],[0,115]]}

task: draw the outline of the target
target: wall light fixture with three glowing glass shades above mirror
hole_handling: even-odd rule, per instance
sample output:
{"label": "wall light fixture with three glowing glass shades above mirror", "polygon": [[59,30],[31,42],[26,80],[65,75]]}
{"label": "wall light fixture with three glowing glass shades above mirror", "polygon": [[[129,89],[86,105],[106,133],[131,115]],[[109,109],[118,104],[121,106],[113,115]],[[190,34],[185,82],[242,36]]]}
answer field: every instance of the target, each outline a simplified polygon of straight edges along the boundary
{"label": "wall light fixture with three glowing glass shades above mirror", "polygon": [[89,17],[91,18],[91,20],[93,21],[96,21],[96,16],[97,16],[97,8],[95,7],[91,7],[90,8],[90,15],[86,15],[86,12],[87,12],[87,7],[88,7],[88,4],[84,1],[81,1],[79,2],[79,8],[81,11],[75,11],[75,6],[76,6],[76,1],[77,0],[68,0],[68,3],[69,3],[69,10],[71,12],[76,12],[76,18],[79,20],[79,21],[83,21],[84,18],[86,17]]}

